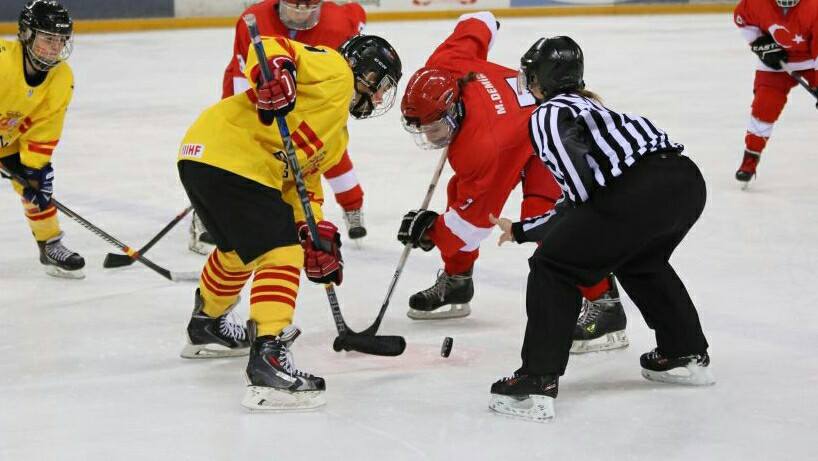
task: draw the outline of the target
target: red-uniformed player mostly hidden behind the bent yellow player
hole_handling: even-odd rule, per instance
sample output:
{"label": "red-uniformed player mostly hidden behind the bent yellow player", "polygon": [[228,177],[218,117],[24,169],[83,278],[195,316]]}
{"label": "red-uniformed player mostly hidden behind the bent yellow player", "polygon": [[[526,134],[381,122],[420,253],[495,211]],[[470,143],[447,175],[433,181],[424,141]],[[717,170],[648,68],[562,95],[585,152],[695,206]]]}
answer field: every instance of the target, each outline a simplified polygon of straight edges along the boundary
{"label": "red-uniformed player mostly hidden behind the bent yellow player", "polygon": [[[366,12],[357,3],[339,5],[322,0],[265,0],[250,6],[242,16],[248,13],[256,16],[262,36],[287,37],[307,45],[323,45],[334,50],[350,37],[361,33],[366,24]],[[236,23],[233,56],[224,71],[222,98],[248,88],[244,67],[249,47],[247,28],[239,19]],[[349,238],[360,239],[366,236],[364,191],[358,182],[349,153],[344,152],[341,161],[327,170],[324,177],[335,192],[335,201],[344,210]],[[189,247],[192,251],[207,254],[212,248],[212,238],[195,213],[190,235]]]}

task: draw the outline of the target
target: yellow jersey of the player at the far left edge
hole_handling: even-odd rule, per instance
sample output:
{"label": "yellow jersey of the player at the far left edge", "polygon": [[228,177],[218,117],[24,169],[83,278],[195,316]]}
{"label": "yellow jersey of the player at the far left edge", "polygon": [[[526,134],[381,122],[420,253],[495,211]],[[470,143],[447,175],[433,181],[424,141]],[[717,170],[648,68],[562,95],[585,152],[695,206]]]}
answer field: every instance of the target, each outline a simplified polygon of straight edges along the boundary
{"label": "yellow jersey of the player at the far left edge", "polygon": [[42,168],[62,135],[74,74],[63,62],[42,83],[29,86],[23,45],[0,39],[0,82],[0,158],[19,152],[23,165]]}

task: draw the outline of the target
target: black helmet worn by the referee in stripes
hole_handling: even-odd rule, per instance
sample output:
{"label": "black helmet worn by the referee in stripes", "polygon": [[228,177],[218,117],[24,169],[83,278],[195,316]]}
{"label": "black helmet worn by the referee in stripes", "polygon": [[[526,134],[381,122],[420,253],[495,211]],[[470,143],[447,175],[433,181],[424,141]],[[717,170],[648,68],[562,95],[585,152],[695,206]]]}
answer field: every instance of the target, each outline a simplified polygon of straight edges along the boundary
{"label": "black helmet worn by the referee in stripes", "polygon": [[517,85],[522,91],[539,89],[545,99],[562,92],[585,88],[585,59],[571,37],[537,40],[520,59]]}

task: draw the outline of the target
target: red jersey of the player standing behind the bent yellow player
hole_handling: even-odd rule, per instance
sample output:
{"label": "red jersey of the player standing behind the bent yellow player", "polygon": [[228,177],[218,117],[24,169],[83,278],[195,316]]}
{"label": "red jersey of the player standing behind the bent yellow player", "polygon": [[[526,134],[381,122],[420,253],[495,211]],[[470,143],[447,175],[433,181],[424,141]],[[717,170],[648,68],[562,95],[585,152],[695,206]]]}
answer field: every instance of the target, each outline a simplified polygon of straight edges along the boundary
{"label": "red jersey of the player standing behind the bent yellow player", "polygon": [[[278,17],[279,0],[265,0],[247,8],[242,16],[248,13],[256,15],[258,30],[262,36],[283,36],[307,45],[324,45],[338,49],[350,37],[358,35],[366,24],[366,12],[357,3],[338,5],[325,1],[321,5],[321,18],[312,29],[287,29]],[[247,62],[247,50],[250,48],[250,35],[247,26],[239,18],[236,22],[236,38],[233,42],[233,56],[224,71],[222,99],[241,93],[248,88],[244,78],[244,63]]]}

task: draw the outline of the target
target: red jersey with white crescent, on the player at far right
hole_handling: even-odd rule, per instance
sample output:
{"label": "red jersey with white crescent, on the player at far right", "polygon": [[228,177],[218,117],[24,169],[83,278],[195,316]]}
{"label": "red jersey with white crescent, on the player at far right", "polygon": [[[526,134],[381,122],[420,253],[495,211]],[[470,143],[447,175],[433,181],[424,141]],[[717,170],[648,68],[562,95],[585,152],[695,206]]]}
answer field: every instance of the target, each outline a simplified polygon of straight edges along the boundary
{"label": "red jersey with white crescent, on the player at far right", "polygon": [[[733,14],[736,26],[747,42],[763,34],[771,35],[787,50],[793,70],[816,68],[818,57],[818,0],[801,0],[785,9],[775,0],[741,0]],[[758,69],[774,72],[758,61]]]}

